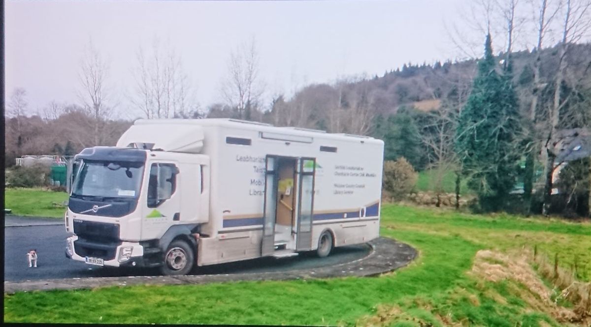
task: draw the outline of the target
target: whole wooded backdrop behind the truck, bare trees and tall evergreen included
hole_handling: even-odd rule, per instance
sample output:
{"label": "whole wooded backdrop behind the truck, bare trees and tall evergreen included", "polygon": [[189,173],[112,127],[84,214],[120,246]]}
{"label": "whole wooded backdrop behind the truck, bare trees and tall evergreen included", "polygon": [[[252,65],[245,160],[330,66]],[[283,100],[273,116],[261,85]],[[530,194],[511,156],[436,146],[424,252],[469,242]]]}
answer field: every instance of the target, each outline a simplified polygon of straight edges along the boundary
{"label": "whole wooded backdrop behind the truck, bare trees and tall evergreen included", "polygon": [[[385,160],[405,158],[415,170],[441,176],[453,172],[457,195],[466,180],[480,202],[496,203],[480,209],[506,210],[506,196],[522,185],[520,211],[548,213],[556,193],[553,174],[561,164],[557,137],[591,125],[591,44],[581,42],[591,31],[591,3],[531,5],[535,19],[529,25],[518,1],[483,7],[487,41],[479,59],[408,63],[383,76],[309,84],[290,96],[275,92],[270,100],[264,98],[253,39],[230,52],[219,90],[224,102],[205,110],[192,96],[180,57],[157,41],[151,50],[139,47],[130,107],[118,106],[109,64],[91,42],[79,67],[79,102],[51,102],[30,116],[27,96],[33,94],[17,88],[7,99],[5,164],[22,155],[72,155],[88,146],[114,145],[132,123],[120,117],[132,117],[125,115],[132,109],[147,119],[231,117],[374,136],[385,140]],[[504,28],[493,29],[499,26]],[[515,32],[525,28],[537,35],[537,43],[515,51]],[[504,35],[505,48],[495,52],[491,30]],[[549,40],[557,41],[548,46]],[[581,166],[574,170],[580,174],[573,169],[563,174],[578,182],[561,182],[560,193],[570,195],[558,207],[586,215],[591,176],[589,161],[581,160],[569,164]]]}

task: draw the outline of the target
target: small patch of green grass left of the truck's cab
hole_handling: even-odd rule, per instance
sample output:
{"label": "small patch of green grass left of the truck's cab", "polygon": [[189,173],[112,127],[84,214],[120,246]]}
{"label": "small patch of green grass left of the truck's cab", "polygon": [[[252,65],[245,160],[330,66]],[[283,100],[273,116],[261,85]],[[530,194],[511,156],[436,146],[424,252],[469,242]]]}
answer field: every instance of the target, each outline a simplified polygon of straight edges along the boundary
{"label": "small patch of green grass left of the truck's cab", "polygon": [[4,207],[14,215],[63,218],[66,208],[56,206],[68,199],[66,192],[46,191],[40,188],[7,188]]}

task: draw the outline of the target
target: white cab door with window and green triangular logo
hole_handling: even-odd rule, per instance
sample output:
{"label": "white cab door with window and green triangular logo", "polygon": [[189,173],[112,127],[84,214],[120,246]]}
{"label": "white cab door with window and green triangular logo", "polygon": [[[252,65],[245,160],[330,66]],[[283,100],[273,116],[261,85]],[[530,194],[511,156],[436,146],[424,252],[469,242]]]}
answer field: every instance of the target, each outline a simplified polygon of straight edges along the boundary
{"label": "white cab door with window and green triangular logo", "polygon": [[180,220],[181,172],[177,162],[152,161],[146,175],[141,238],[150,240],[160,238],[174,221]]}

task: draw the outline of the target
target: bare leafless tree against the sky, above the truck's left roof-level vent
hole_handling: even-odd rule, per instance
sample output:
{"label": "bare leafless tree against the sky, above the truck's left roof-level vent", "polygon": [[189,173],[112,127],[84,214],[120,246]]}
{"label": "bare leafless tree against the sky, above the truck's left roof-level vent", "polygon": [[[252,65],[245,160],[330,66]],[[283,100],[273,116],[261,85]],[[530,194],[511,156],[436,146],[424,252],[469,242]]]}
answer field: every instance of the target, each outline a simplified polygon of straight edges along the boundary
{"label": "bare leafless tree against the sky, above the truck's left roof-level vent", "polygon": [[258,109],[263,92],[258,74],[259,56],[253,38],[230,51],[228,76],[221,87],[223,98],[238,110],[241,119],[251,119],[251,112]]}

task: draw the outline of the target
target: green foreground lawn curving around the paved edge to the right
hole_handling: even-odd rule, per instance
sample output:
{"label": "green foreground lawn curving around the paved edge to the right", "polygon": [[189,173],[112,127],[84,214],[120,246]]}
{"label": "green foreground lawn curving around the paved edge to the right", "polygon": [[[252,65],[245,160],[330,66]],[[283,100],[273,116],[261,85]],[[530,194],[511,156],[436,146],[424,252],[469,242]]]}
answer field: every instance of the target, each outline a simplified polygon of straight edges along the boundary
{"label": "green foreground lawn curving around the paved edge to the right", "polygon": [[[384,205],[381,235],[420,251],[379,277],[106,287],[4,296],[6,322],[561,326],[521,283],[470,272],[477,251],[537,245],[591,277],[591,224]],[[573,260],[573,259],[570,259]]]}

